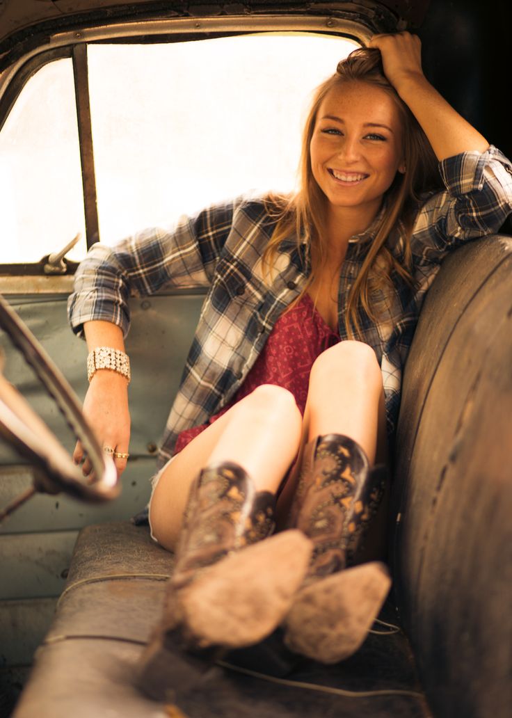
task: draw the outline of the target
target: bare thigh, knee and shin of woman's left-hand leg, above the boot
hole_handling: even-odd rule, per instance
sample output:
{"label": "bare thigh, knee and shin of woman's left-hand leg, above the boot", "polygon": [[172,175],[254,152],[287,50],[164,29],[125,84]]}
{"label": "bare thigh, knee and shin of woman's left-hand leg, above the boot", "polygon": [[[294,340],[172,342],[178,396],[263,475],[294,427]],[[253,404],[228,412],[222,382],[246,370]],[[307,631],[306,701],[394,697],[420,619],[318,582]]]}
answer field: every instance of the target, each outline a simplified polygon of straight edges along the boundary
{"label": "bare thigh, knee and shin of woman's left-hand leg, above the boot", "polygon": [[195,437],[164,470],[150,507],[155,538],[172,550],[190,485],[204,467],[222,461],[246,470],[256,490],[274,493],[297,454],[301,416],[294,397],[265,384]]}

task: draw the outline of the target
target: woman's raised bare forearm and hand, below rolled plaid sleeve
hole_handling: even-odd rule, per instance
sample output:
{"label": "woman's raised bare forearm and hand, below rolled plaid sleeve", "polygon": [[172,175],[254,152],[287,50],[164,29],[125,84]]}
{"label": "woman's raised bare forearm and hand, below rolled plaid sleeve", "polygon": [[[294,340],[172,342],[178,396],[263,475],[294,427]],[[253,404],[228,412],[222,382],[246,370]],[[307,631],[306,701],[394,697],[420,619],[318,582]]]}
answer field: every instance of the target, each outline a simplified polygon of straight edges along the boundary
{"label": "woman's raised bare forearm and hand, below rolled plaid sleeve", "polygon": [[485,152],[489,143],[432,87],[422,70],[422,43],[409,32],[373,35],[384,73],[427,135],[439,161],[461,152]]}

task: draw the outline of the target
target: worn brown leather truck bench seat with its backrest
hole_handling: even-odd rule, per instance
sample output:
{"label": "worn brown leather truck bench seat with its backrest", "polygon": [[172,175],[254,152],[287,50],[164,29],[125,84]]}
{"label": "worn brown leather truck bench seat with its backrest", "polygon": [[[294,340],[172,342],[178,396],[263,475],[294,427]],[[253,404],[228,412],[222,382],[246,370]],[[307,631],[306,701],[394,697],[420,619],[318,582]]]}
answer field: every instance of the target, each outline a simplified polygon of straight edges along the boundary
{"label": "worn brown leather truck bench seat with its backrest", "polygon": [[218,667],[178,707],[149,701],[134,684],[136,660],[172,555],[146,527],[89,526],[15,717],[505,718],[511,439],[512,239],[502,236],[445,261],[406,365],[391,498],[394,592],[382,615],[404,633],[376,625],[380,633],[348,661],[304,661],[291,685]]}

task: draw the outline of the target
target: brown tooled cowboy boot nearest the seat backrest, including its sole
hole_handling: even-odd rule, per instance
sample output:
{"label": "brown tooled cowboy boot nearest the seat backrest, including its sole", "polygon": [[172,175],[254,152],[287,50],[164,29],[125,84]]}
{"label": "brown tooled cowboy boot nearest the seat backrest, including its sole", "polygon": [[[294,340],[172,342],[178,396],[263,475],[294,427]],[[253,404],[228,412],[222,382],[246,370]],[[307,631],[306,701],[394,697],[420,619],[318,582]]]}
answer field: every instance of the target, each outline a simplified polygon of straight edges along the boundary
{"label": "brown tooled cowboy boot nearest the seat backrest, including its sole", "polygon": [[385,483],[386,470],[370,470],[365,452],[349,437],[327,434],[304,449],[290,523],[311,538],[314,548],[284,623],[292,651],[338,663],[365,640],[391,579],[378,561],[347,566],[361,548]]}

